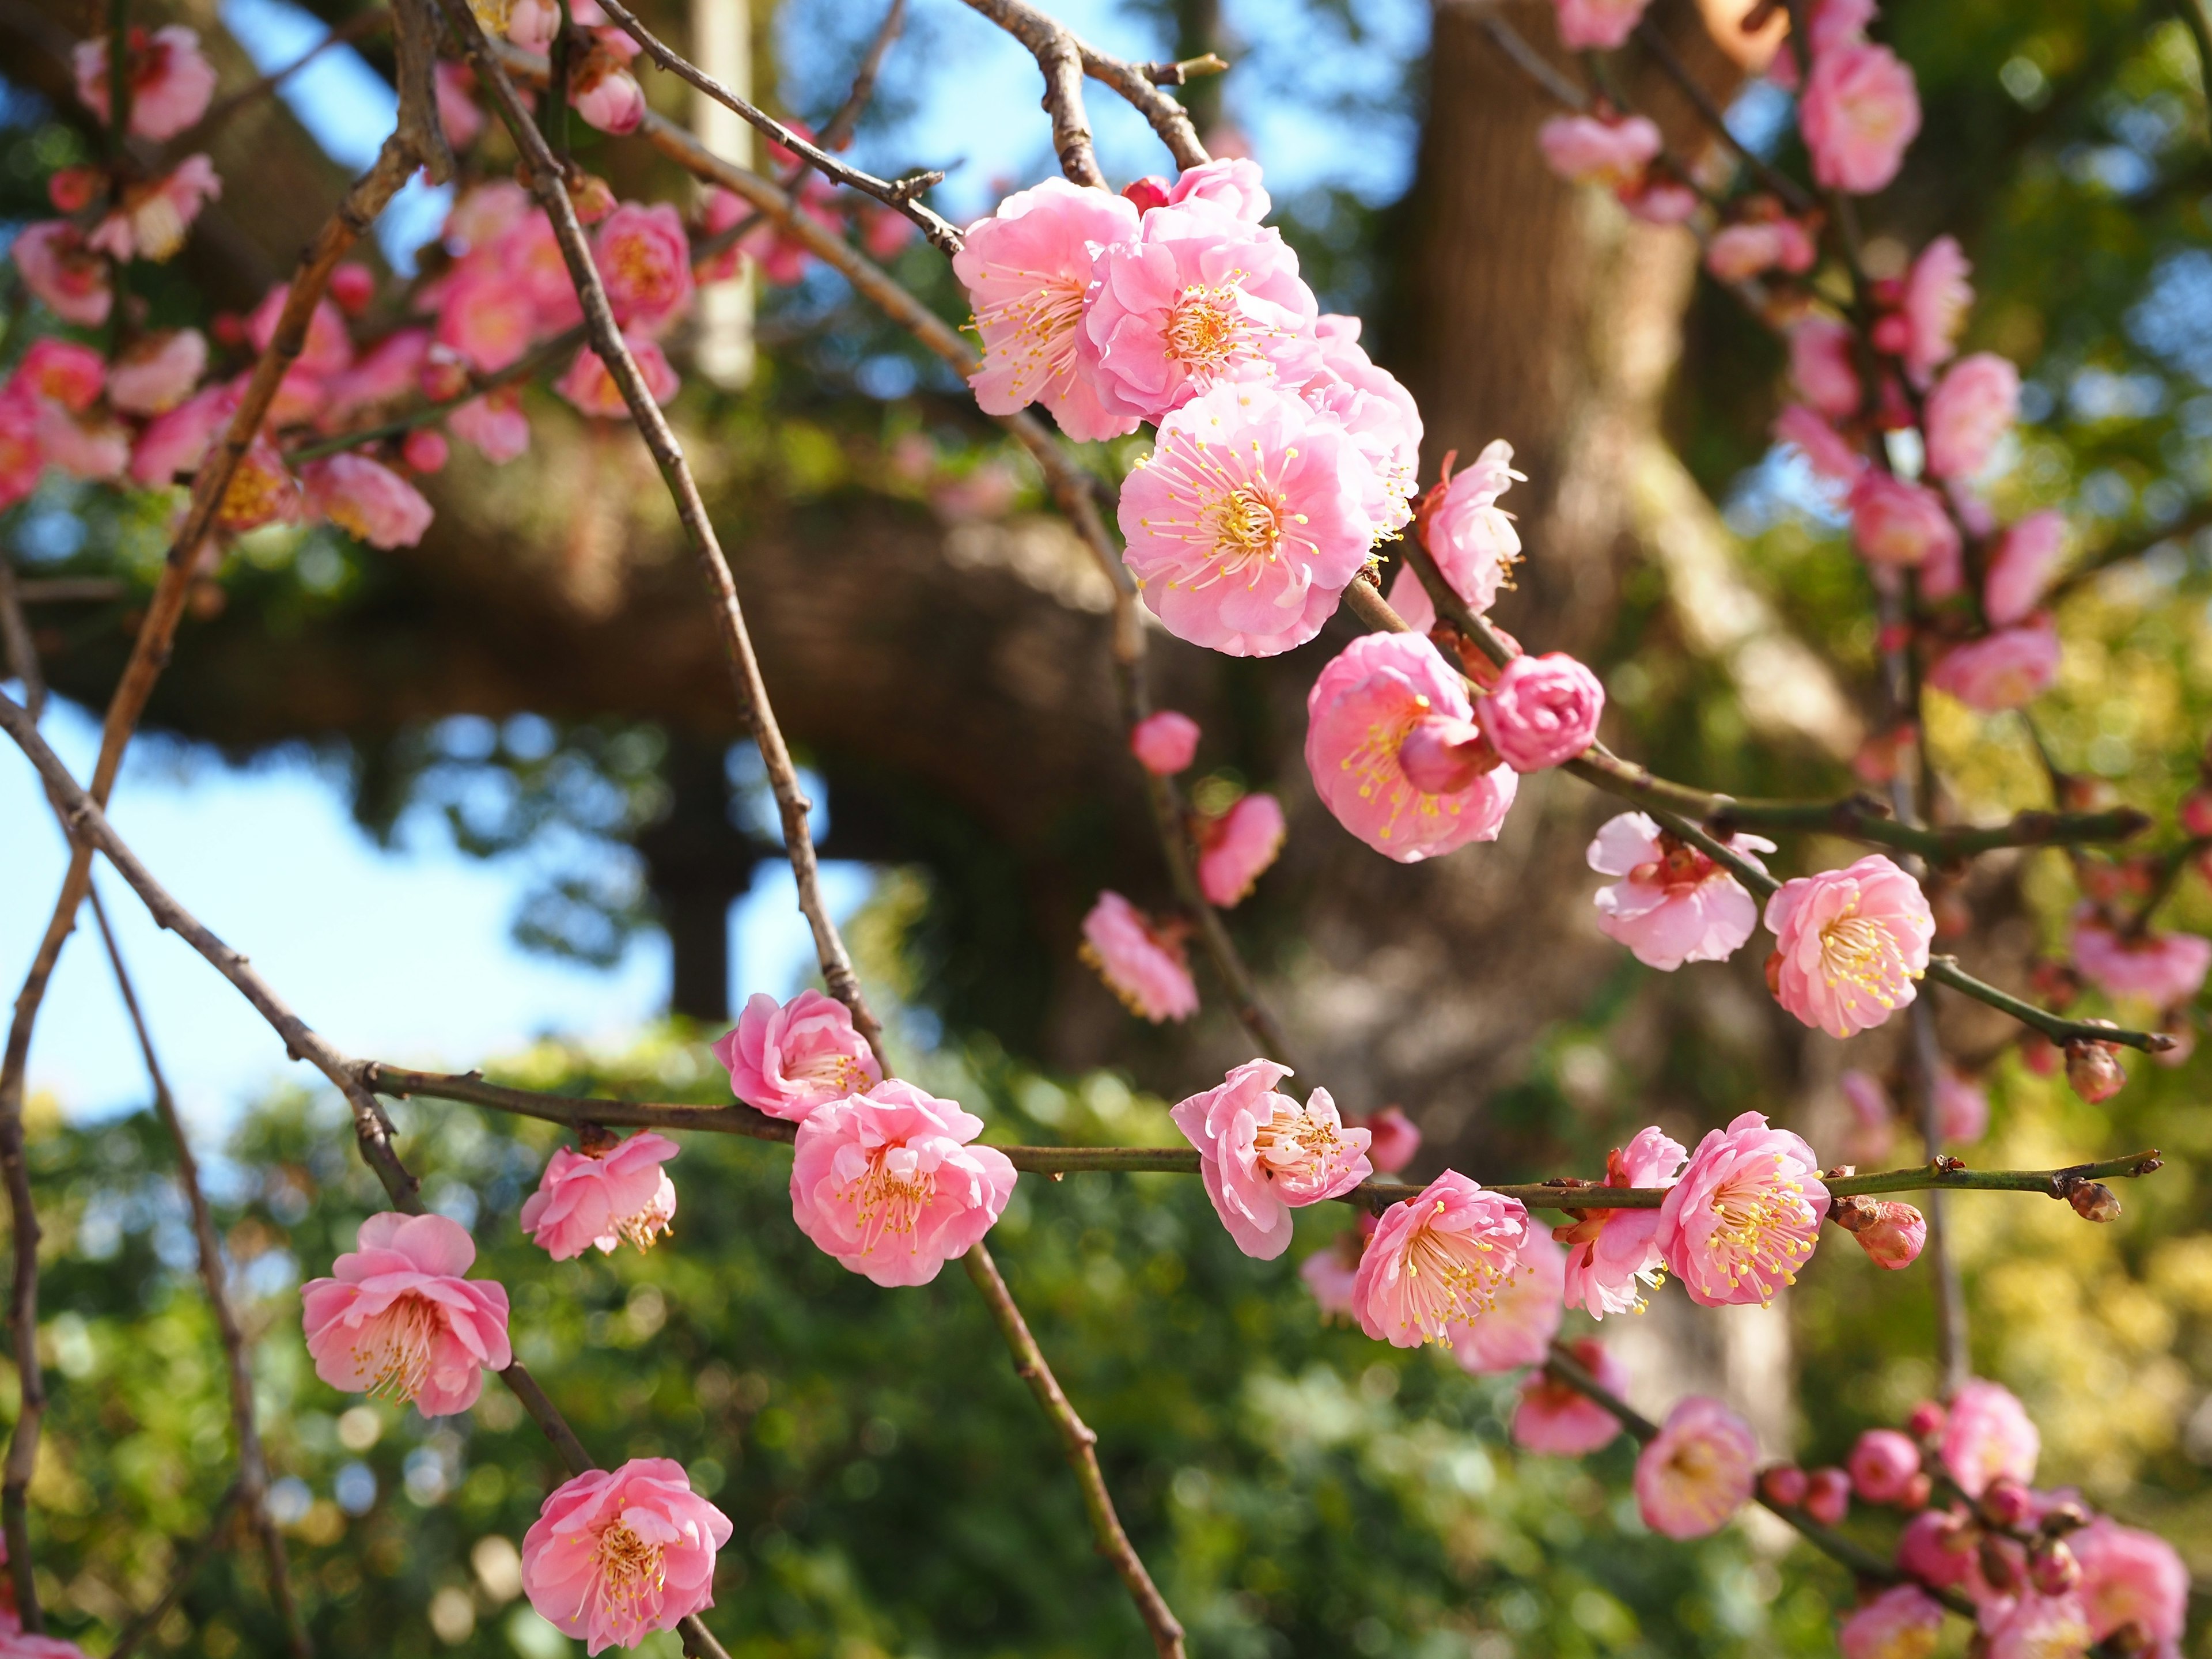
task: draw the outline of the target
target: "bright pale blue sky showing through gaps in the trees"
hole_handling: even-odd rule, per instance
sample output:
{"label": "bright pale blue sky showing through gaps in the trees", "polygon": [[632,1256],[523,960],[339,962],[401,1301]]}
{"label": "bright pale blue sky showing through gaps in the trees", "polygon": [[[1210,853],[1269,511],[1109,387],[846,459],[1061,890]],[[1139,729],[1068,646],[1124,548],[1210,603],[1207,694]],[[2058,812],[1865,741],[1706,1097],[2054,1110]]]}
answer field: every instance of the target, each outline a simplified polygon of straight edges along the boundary
{"label": "bright pale blue sky showing through gaps in the trees", "polygon": [[[845,0],[790,0],[792,13]],[[1281,0],[1232,4],[1243,40],[1272,42]],[[1150,24],[1113,0],[1060,0],[1057,15],[1106,51],[1157,55]],[[1396,64],[1418,49],[1418,0],[1376,0],[1363,15],[1371,40],[1327,46],[1340,82],[1389,86]],[[285,0],[223,0],[221,18],[263,69],[299,58],[321,24]],[[896,137],[889,166],[960,161],[947,210],[989,206],[1004,181],[1051,166],[1037,111],[1035,62],[958,0],[918,0],[914,49],[929,51],[918,75],[914,122]],[[1254,46],[1248,86],[1279,86],[1305,73],[1314,51]],[[1274,55],[1270,55],[1274,53]],[[1117,179],[1168,170],[1166,150],[1119,100],[1093,86],[1099,155]],[[285,97],[330,155],[365,166],[389,131],[389,88],[349,49],[323,53],[285,86]],[[1332,122],[1270,117],[1230,86],[1232,117],[1254,139],[1279,188],[1349,184],[1387,197],[1402,188],[1407,133],[1345,144]],[[1250,104],[1250,106],[1248,106]],[[396,263],[445,212],[442,192],[420,184],[378,226]],[[20,686],[9,686],[20,695]],[[84,710],[55,706],[46,739],[84,776],[97,726]],[[0,980],[13,998],[44,929],[64,867],[62,838],[29,763],[0,745]],[[526,860],[476,860],[456,852],[434,821],[405,825],[396,849],[376,847],[349,818],[341,792],[301,763],[232,770],[142,748],[115,790],[113,818],[146,865],[230,945],[252,956],[299,1013],[354,1055],[434,1066],[471,1066],[538,1033],[619,1042],[666,1000],[666,947],[633,947],[613,971],[529,956],[509,925],[531,880]],[[113,872],[102,891],[139,984],[155,1042],[186,1113],[210,1128],[290,1066],[259,1015],[179,940],[157,931]],[[852,911],[867,891],[854,865],[827,872],[832,902]],[[88,918],[86,918],[88,922]],[[805,925],[790,874],[763,865],[754,891],[732,909],[732,969],[739,993],[785,993],[810,971]],[[115,998],[97,940],[84,931],[62,956],[31,1051],[31,1088],[51,1091],[69,1113],[108,1113],[146,1099],[137,1046]]]}

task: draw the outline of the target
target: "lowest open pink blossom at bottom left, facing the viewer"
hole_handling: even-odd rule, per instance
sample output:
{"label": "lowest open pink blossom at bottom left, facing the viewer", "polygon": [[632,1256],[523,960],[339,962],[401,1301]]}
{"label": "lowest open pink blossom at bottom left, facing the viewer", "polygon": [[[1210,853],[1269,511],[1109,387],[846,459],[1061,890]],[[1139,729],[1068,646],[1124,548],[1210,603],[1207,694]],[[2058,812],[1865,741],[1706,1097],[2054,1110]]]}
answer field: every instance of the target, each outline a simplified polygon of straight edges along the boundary
{"label": "lowest open pink blossom at bottom left, facing the viewer", "polygon": [[690,1489],[675,1458],[586,1469],[546,1498],[522,1535],[522,1590],[586,1652],[635,1648],[714,1606],[714,1551],[730,1517]]}

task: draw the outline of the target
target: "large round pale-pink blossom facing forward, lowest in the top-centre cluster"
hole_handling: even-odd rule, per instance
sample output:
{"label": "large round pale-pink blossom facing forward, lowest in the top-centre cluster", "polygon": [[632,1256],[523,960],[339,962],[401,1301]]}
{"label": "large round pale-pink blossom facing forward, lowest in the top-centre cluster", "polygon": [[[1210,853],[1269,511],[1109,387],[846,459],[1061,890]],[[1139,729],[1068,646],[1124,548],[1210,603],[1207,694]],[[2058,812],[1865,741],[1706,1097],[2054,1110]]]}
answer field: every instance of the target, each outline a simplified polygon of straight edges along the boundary
{"label": "large round pale-pink blossom facing forward, lowest in the top-centre cluster", "polygon": [[1161,420],[1124,480],[1121,557],[1177,639],[1274,657],[1321,633],[1365,564],[1365,484],[1336,420],[1287,392],[1221,385]]}

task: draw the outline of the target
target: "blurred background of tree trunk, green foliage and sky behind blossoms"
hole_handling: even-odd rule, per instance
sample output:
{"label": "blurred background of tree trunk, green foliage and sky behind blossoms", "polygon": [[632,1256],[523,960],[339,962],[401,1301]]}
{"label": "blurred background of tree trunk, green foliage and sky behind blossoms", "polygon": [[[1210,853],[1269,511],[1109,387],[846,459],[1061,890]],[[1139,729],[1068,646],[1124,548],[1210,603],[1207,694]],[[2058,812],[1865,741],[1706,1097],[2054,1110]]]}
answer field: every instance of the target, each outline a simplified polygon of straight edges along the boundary
{"label": "blurred background of tree trunk, green foliage and sky behind blossoms", "polygon": [[[243,82],[352,9],[228,0],[161,15],[208,31]],[[856,155],[947,168],[942,206],[964,219],[1051,170],[1035,71],[951,0],[909,13]],[[1528,482],[1506,504],[1528,562],[1500,619],[1599,666],[1610,741],[1741,794],[1851,785],[1876,706],[1871,604],[1832,509],[1770,447],[1781,354],[1697,274],[1686,237],[1544,173],[1533,131],[1548,111],[1473,7],[1068,0],[1060,13],[1130,58],[1219,49],[1237,64],[1190,93],[1201,124],[1265,164],[1325,305],[1360,314],[1418,394],[1427,476],[1447,449],[1515,445]],[[686,38],[681,9],[646,15]],[[1551,49],[1546,7],[1513,0],[1502,15]],[[1661,0],[1652,15],[1745,144],[1794,142],[1785,95],[1745,82],[1717,44],[1734,40],[1725,7]],[[2035,730],[2062,768],[2157,812],[2168,841],[2212,726],[2201,15],[2194,0],[1896,0],[1882,29],[1920,77],[1927,128],[1865,226],[1878,274],[1938,232],[1975,261],[1969,347],[2026,376],[2000,500],[2006,515],[2059,504],[2075,526],[2066,664]],[[880,9],[752,0],[750,18],[761,97],[821,119]],[[0,219],[42,212],[46,175],[86,153],[58,51],[95,27],[73,0],[0,9]],[[159,314],[261,296],[380,139],[387,71],[374,38],[334,49],[226,133],[226,199],[164,268]],[[1639,102],[1699,148],[1650,66],[1630,71]],[[688,111],[679,91],[648,77],[672,115]],[[1166,170],[1099,88],[1091,113],[1117,181]],[[688,199],[635,148],[582,139],[624,195]],[[411,192],[378,257],[414,270],[442,210]],[[962,314],[927,248],[894,263]],[[1172,1141],[1166,1104],[1250,1048],[1219,998],[1190,1029],[1152,1031],[1075,960],[1102,885],[1139,902],[1166,889],[1117,754],[1095,573],[960,387],[836,279],[759,288],[752,341],[750,376],[692,374],[675,414],[902,1071],[984,1115],[991,1139]],[[549,396],[531,414],[529,458],[500,471],[456,458],[434,480],[438,524],[418,549],[374,553],[327,526],[246,538],[195,595],[113,816],[352,1053],[726,1099],[706,1042],[732,1000],[785,995],[810,973],[774,821],[635,438]],[[159,515],[49,482],[0,520],[0,544],[29,580],[111,584],[33,615],[64,695],[49,734],[84,765]],[[1352,1110],[1405,1106],[1427,1133],[1422,1177],[1447,1161],[1482,1179],[1595,1175],[1597,1148],[1646,1121],[1694,1139],[1747,1108],[1847,1155],[1836,1077],[1889,1068],[1896,1033],[1807,1037],[1765,998],[1756,960],[1659,975],[1604,942],[1582,847],[1610,805],[1579,783],[1531,779],[1498,845],[1436,865],[1387,865],[1343,836],[1298,761],[1303,690],[1336,648],[1332,630],[1241,664],[1152,641],[1164,699],[1206,726],[1201,801],[1265,787],[1290,814],[1281,865],[1232,927],[1316,1079]],[[1951,814],[2048,803],[2020,719],[1931,699],[1931,732]],[[1783,849],[1792,867],[1840,856],[1818,838]],[[0,971],[29,960],[60,867],[29,770],[0,757]],[[2077,880],[2057,854],[1984,860],[1958,891],[1966,962],[2022,984],[2062,940]],[[111,894],[212,1155],[274,1502],[321,1650],[568,1652],[518,1599],[515,1544],[555,1480],[535,1429],[498,1389],[425,1425],[314,1380],[296,1285],[349,1245],[378,1190],[336,1102]],[[2212,927],[2199,876],[2170,918]],[[2203,1577],[2212,1062],[2143,1064],[2090,1108],[2022,1066],[1984,1013],[1940,1009],[1947,1051],[1993,1102],[1989,1133],[1955,1152],[2051,1166],[2159,1146],[2168,1168],[2128,1188],[2108,1228],[2037,1199],[1953,1201],[1973,1365],[2042,1422],[2048,1484],[2154,1526]],[[170,1157],[84,940],[31,1082],[55,1391],[33,1486],[42,1593],[58,1628],[97,1650],[228,1484],[228,1420]],[[511,1285],[518,1352],[586,1444],[681,1458],[737,1522],[710,1617],[732,1652],[1141,1650],[1057,1447],[960,1276],[880,1292],[843,1274],[790,1225],[785,1155],[712,1139],[672,1170],[672,1241],[546,1265],[515,1225],[555,1144],[542,1126],[427,1102],[398,1119],[431,1203],[473,1228],[480,1270]],[[1900,1137],[1898,1161],[1916,1155]],[[1252,1263],[1192,1181],[1071,1177],[1024,1181],[995,1234],[1197,1652],[1832,1648],[1849,1584],[1787,1535],[1747,1520],[1690,1546],[1650,1537],[1626,1447],[1584,1464],[1524,1458],[1504,1436],[1506,1383],[1327,1327],[1296,1263],[1343,1225],[1305,1212],[1287,1259]],[[1807,1464],[1838,1460],[1936,1380],[1924,1276],[1878,1276],[1845,1250],[1774,1310],[1692,1321],[1670,1290],[1604,1334],[1639,1405],[1725,1394],[1770,1453]],[[1854,1526],[1885,1542],[1880,1520]],[[276,1650],[257,1571],[223,1555],[159,1650]]]}

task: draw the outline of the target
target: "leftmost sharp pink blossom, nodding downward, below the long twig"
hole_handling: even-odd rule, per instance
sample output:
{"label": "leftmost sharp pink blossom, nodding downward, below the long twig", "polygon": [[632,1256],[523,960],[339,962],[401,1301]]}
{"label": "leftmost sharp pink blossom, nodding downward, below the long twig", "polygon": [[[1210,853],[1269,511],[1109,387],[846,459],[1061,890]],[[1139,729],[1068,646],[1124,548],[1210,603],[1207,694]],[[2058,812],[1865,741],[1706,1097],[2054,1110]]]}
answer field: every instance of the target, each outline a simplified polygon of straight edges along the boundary
{"label": "leftmost sharp pink blossom, nodding downward, below the long twig", "polygon": [[334,1389],[414,1400],[425,1418],[467,1411],[504,1371],[507,1287],[462,1279],[476,1241],[442,1214],[372,1214],[332,1279],[301,1285],[307,1354]]}

